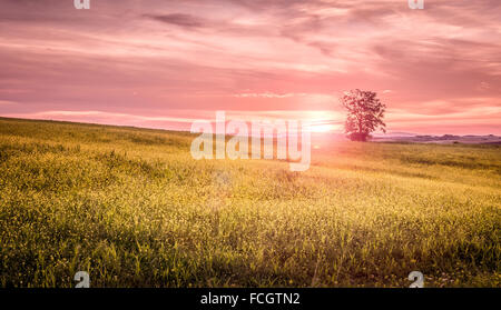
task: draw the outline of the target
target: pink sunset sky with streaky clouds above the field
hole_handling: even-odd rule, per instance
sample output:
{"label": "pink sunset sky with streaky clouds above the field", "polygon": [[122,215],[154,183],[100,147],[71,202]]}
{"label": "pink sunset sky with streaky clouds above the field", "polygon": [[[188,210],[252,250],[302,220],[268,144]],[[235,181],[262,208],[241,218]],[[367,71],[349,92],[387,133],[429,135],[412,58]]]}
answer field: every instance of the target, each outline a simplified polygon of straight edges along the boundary
{"label": "pink sunset sky with streaky clouds above the field", "polygon": [[189,129],[228,116],[341,131],[501,134],[501,1],[0,0],[0,116]]}

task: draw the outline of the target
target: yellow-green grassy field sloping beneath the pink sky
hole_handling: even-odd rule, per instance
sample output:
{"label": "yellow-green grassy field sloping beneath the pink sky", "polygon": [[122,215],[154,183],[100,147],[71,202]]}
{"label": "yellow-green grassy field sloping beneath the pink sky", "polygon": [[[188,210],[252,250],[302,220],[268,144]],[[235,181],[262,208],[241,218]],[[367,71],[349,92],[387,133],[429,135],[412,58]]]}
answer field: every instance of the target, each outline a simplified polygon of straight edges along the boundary
{"label": "yellow-green grassy field sloping beneath the pink sky", "polygon": [[0,119],[0,286],[501,287],[501,148],[340,142],[306,172],[195,136]]}

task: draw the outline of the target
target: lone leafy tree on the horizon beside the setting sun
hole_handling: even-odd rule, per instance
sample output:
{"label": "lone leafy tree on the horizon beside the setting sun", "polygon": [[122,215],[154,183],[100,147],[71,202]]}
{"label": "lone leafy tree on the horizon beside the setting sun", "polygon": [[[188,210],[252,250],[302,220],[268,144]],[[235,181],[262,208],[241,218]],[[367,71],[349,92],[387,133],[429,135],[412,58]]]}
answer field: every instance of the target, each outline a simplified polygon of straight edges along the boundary
{"label": "lone leafy tree on the horizon beside the setting sun", "polygon": [[375,92],[351,90],[344,93],[341,103],[347,110],[344,131],[352,141],[366,141],[376,129],[386,132],[383,122],[386,106],[376,98]]}

